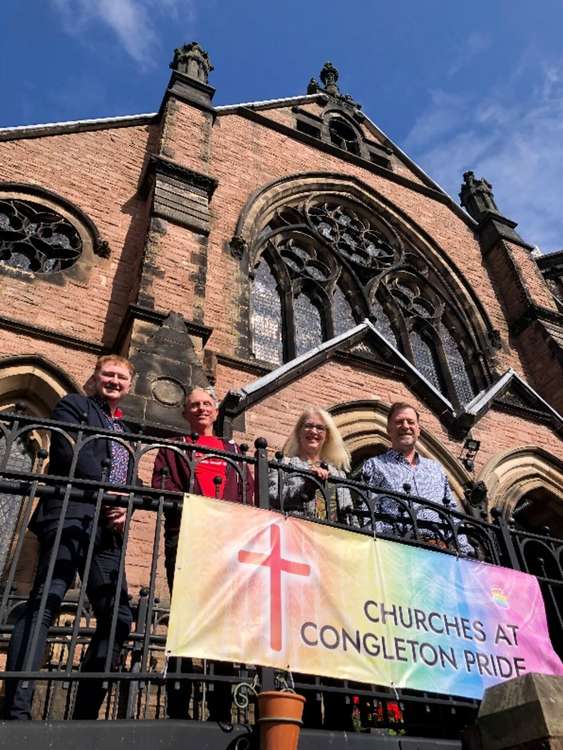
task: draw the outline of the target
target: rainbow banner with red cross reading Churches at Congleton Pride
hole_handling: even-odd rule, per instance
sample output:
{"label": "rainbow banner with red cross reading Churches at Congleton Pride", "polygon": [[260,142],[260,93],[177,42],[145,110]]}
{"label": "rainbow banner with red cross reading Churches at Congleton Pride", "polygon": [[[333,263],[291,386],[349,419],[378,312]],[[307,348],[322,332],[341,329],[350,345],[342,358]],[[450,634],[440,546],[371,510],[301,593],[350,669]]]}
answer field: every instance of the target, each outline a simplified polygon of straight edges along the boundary
{"label": "rainbow banner with red cross reading Churches at Congleton Pride", "polygon": [[537,580],[186,495],[167,653],[480,698],[563,674]]}

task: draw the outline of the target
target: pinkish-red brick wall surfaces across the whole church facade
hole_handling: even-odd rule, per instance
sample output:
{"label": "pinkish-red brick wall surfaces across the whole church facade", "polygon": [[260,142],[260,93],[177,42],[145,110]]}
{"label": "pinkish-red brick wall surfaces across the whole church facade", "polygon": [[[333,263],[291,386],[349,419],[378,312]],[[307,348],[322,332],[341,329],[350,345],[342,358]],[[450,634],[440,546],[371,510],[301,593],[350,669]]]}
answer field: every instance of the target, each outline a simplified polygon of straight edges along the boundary
{"label": "pinkish-red brick wall surfaces across the whole church facade", "polygon": [[[54,287],[48,278],[36,277],[26,283],[0,275],[0,314],[100,343],[113,339],[127,303],[136,299],[147,212],[146,202],[138,196],[138,185],[152,135],[153,150],[218,180],[210,204],[209,237],[162,222],[166,231],[151,236],[149,250],[158,273],[147,277],[143,290],[154,298],[157,310],[175,310],[213,327],[209,349],[232,356],[237,348],[238,329],[245,322],[246,313],[241,314],[239,301],[247,279],[227,245],[246,202],[273,180],[326,171],[362,180],[432,237],[437,256],[442,256],[444,265],[450,266],[460,284],[475,290],[492,326],[500,331],[501,370],[513,367],[533,375],[535,368],[545,366],[532,358],[525,366],[516,349],[510,348],[507,313],[499,300],[498,286],[495,288],[498,282],[484,265],[472,228],[449,206],[239,115],[219,114],[213,122],[208,113],[172,101],[165,111],[162,131],[157,131],[155,125],[152,134],[148,127],[137,126],[0,144],[1,179],[32,182],[73,201],[95,222],[112,249],[109,259],[95,259],[85,283],[67,281],[62,287]],[[287,111],[279,109],[267,116],[284,122],[289,119]],[[156,145],[160,132],[162,137]],[[401,170],[408,172],[406,167]],[[511,257],[531,298],[553,307],[543,279],[531,271],[532,261],[526,252],[515,247]],[[536,344],[530,340],[526,346],[534,348]],[[30,352],[42,353],[79,382],[95,360],[93,354],[3,332],[0,355]],[[546,359],[544,353],[541,356]],[[221,364],[217,368],[219,395],[254,379],[242,368]],[[402,383],[331,362],[252,407],[246,415],[245,435],[237,437],[250,442],[262,435],[272,446],[279,447],[305,404],[334,406],[375,397],[386,402],[412,400]],[[451,440],[438,418],[423,406],[422,418],[425,428],[444,443],[451,455],[457,455],[459,443]],[[561,441],[548,427],[501,412],[489,412],[474,429],[474,436],[482,441],[477,472],[492,456],[528,444],[542,446],[563,458]],[[145,468],[145,473],[150,474],[150,467]],[[134,588],[148,582],[150,560],[145,550],[152,544],[154,518],[137,513],[131,533],[128,574]],[[159,571],[162,584],[162,570]]]}

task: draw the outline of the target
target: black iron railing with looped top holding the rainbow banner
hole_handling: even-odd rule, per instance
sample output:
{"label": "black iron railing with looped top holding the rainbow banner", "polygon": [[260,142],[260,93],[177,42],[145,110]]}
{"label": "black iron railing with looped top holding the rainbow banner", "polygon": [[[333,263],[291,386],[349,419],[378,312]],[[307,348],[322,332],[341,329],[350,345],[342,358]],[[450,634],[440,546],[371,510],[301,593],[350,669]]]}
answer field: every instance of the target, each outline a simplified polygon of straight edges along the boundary
{"label": "black iron railing with looped top holding the rainbow banner", "polygon": [[[21,454],[22,442],[47,446],[49,436],[58,434],[68,441],[71,452],[67,476],[52,476],[47,465],[48,453],[36,450],[34,470],[22,470],[21,461],[13,460],[15,451]],[[33,441],[31,441],[33,437]],[[127,450],[133,467],[131,484],[119,487],[107,481],[88,481],[76,477],[80,451],[91,441],[113,440]],[[262,688],[293,681],[295,688],[308,697],[305,721],[309,725],[324,725],[333,729],[356,728],[373,731],[415,734],[418,736],[455,737],[462,726],[470,723],[478,707],[476,701],[454,699],[450,696],[409,690],[390,690],[376,685],[327,680],[324,678],[288,675],[255,665],[230,665],[227,669],[213,662],[175,660],[166,664],[164,646],[168,606],[167,588],[161,584],[159,555],[163,536],[165,512],[181,508],[183,495],[143,485],[139,474],[150,476],[156,452],[166,447],[176,452],[190,468],[193,489],[196,458],[194,448],[186,442],[154,438],[146,434],[118,434],[93,429],[86,424],[70,425],[48,419],[25,416],[23,413],[0,414],[0,497],[13,504],[16,533],[8,545],[8,562],[4,567],[0,600],[0,646],[5,654],[21,608],[27,595],[20,591],[22,566],[29,563],[26,553],[26,529],[32,511],[41,498],[57,498],[61,513],[56,524],[53,550],[47,571],[47,581],[39,601],[38,619],[47,606],[47,591],[53,576],[57,546],[64,529],[65,514],[72,501],[86,501],[94,506],[94,525],[100,523],[104,506],[120,506],[126,510],[120,562],[115,581],[116,591],[122,586],[130,541],[133,513],[142,509],[153,519],[153,536],[147,550],[147,580],[130,599],[133,627],[126,639],[118,664],[111,664],[111,653],[118,624],[119,597],[115,597],[111,613],[109,643],[103,668],[95,672],[80,670],[85,649],[94,632],[94,616],[90,609],[86,588],[92,562],[94,535],[86,555],[82,580],[67,594],[57,620],[49,630],[43,668],[30,668],[26,660],[21,671],[6,671],[0,676],[21,680],[25,684],[36,681],[34,718],[71,718],[78,685],[84,680],[97,680],[107,688],[100,718],[159,719],[167,715],[167,692],[182,691],[190,685],[186,716],[205,719],[213,692],[229,691],[241,683],[259,683]],[[201,454],[211,451],[197,447]],[[563,654],[563,540],[517,530],[497,513],[490,522],[484,512],[469,516],[443,503],[433,503],[412,496],[408,492],[394,493],[374,490],[361,482],[330,477],[319,481],[307,471],[296,470],[283,460],[281,454],[269,459],[266,441],[258,438],[255,450],[241,446],[239,454],[213,451],[239,473],[244,489],[244,502],[251,502],[246,494],[246,475],[254,475],[254,502],[261,507],[277,507],[280,512],[291,512],[285,507],[284,488],[289,478],[305,481],[317,498],[314,517],[317,523],[335,525],[356,534],[377,534],[395,541],[418,546],[432,546],[443,554],[459,555],[524,570],[538,576],[548,611],[550,634],[556,650]],[[18,468],[19,467],[19,468]],[[166,476],[161,477],[164,486]],[[275,490],[272,490],[275,487]],[[407,488],[408,489],[408,488]],[[346,503],[341,498],[347,494]],[[351,500],[351,504],[350,501]],[[6,542],[6,540],[4,540]],[[165,592],[159,599],[159,588]],[[30,653],[37,632],[31,634]],[[3,658],[0,656],[0,658]],[[0,662],[0,665],[2,662]],[[113,667],[113,669],[112,669]],[[244,690],[242,691],[244,692]],[[240,700],[231,703],[230,720],[251,722],[252,703]],[[228,695],[228,692],[227,692]]]}

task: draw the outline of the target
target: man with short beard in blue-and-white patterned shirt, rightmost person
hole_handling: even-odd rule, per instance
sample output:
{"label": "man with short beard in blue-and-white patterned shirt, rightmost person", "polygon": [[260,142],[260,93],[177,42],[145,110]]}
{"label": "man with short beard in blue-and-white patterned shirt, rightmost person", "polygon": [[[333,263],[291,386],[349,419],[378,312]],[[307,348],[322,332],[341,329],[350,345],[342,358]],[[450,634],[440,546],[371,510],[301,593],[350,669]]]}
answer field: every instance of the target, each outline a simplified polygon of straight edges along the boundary
{"label": "man with short beard in blue-and-white patterned shirt, rightmost person", "polygon": [[[416,450],[420,436],[417,410],[404,402],[392,404],[387,432],[391,448],[364,463],[362,481],[374,489],[401,492],[455,508],[456,501],[443,468],[437,461],[423,458]],[[440,547],[446,547],[451,540],[451,529],[444,525],[444,517],[431,508],[380,493],[374,493],[372,498],[379,533],[413,536],[413,522],[407,512],[410,506],[416,515],[420,539]],[[461,538],[459,541],[461,543]],[[462,546],[466,542],[464,538]]]}

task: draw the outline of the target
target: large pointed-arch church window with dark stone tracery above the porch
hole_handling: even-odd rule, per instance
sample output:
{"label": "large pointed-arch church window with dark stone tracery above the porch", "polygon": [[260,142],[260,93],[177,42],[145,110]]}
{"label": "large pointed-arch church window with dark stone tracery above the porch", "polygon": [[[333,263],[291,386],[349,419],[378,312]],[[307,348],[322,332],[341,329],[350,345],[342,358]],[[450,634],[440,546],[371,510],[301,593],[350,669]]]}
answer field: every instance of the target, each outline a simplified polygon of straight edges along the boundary
{"label": "large pointed-arch church window with dark stone tracery above the porch", "polygon": [[468,320],[400,227],[342,196],[310,195],[273,214],[252,256],[258,359],[291,360],[369,317],[452,403],[473,398],[484,376]]}

